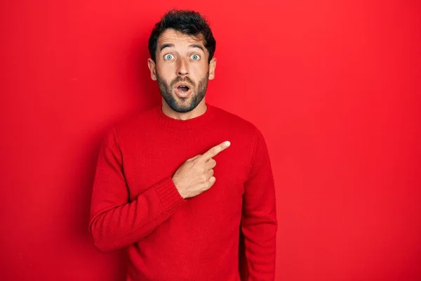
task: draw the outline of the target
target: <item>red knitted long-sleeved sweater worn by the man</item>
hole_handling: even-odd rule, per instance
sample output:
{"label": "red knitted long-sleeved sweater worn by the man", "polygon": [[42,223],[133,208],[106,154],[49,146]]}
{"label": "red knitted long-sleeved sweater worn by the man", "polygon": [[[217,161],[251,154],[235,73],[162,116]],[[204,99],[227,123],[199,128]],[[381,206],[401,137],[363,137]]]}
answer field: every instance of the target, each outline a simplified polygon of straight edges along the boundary
{"label": "red knitted long-sleeved sweater worn by the man", "polygon": [[[237,281],[242,232],[247,280],[274,280],[276,204],[262,133],[208,103],[185,121],[161,106],[121,122],[105,138],[95,173],[90,231],[100,251],[126,247],[126,280]],[[215,184],[184,200],[172,176],[223,141]]]}

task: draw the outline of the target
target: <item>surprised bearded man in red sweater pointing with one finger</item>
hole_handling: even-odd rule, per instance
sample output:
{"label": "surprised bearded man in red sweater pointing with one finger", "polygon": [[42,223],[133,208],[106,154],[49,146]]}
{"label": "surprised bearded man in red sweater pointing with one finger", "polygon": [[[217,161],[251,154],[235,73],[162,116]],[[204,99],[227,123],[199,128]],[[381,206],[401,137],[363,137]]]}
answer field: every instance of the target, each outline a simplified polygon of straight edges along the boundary
{"label": "surprised bearded man in red sweater pointing with one finger", "polygon": [[215,39],[192,11],[170,11],[149,38],[162,105],[109,131],[95,174],[90,231],[125,247],[127,280],[274,280],[276,204],[262,133],[206,103]]}

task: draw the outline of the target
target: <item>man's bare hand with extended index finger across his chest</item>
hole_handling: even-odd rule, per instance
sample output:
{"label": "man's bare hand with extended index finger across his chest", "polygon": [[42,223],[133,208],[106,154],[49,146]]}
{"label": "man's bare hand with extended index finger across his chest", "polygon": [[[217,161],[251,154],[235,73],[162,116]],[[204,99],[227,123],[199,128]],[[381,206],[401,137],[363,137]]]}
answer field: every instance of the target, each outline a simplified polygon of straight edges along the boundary
{"label": "man's bare hand with extended index finger across his chest", "polygon": [[212,157],[225,150],[230,145],[225,141],[210,148],[203,155],[196,155],[187,159],[173,175],[173,182],[181,197],[194,197],[208,190],[216,181],[213,168],[216,162]]}

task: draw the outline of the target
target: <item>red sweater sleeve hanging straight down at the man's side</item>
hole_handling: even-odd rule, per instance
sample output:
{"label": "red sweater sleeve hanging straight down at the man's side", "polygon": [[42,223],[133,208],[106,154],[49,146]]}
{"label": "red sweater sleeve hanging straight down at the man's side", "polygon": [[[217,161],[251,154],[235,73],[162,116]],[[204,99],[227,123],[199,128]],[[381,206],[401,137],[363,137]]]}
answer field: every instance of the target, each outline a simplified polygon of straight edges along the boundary
{"label": "red sweater sleeve hanging straight down at the man's side", "polygon": [[276,200],[272,167],[265,139],[256,129],[250,175],[244,185],[241,218],[248,281],[274,280],[276,230]]}

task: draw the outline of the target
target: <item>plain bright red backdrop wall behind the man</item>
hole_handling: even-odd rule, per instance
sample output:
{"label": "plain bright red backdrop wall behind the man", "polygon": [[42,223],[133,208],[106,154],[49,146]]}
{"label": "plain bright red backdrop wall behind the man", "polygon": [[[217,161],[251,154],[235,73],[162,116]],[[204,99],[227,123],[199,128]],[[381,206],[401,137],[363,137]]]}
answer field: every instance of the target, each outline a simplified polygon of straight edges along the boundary
{"label": "plain bright red backdrop wall behind the man", "polygon": [[88,235],[95,162],[109,126],[160,103],[147,39],[177,7],[218,42],[208,102],[267,139],[276,280],[421,280],[420,6],[1,1],[0,279],[124,279]]}

